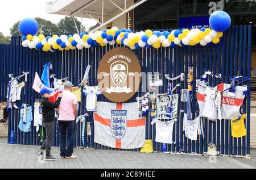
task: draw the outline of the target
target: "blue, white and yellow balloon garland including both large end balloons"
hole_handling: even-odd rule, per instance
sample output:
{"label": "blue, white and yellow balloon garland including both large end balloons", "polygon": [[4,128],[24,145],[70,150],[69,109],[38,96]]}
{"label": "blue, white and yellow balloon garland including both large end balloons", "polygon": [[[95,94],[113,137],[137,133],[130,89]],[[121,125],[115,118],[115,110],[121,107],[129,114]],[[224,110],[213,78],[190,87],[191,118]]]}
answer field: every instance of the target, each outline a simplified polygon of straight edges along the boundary
{"label": "blue, white and yellow balloon garland including both large end balloons", "polygon": [[205,46],[209,43],[217,44],[223,32],[226,31],[230,24],[230,16],[224,11],[215,11],[209,18],[211,28],[192,28],[191,30],[183,28],[182,30],[168,31],[140,31],[132,32],[131,30],[118,30],[113,27],[111,30],[82,32],[74,35],[53,35],[44,36],[36,35],[38,31],[38,23],[35,19],[26,18],[19,22],[19,31],[22,36],[22,46],[30,49],[42,49],[43,51],[54,52],[57,49],[60,51],[69,49],[82,49],[97,47],[98,45],[105,46],[106,44],[114,45],[122,44],[131,49],[138,48],[155,48],[161,46],[164,48],[175,48],[176,46],[183,47],[185,45],[200,44]]}

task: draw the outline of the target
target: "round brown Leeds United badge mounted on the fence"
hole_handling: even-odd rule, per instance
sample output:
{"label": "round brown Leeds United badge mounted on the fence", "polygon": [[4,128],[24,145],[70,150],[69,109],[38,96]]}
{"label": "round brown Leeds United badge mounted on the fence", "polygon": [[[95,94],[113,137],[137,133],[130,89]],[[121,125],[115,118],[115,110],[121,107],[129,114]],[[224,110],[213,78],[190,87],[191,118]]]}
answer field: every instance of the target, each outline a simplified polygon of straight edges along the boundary
{"label": "round brown Leeds United badge mounted on the fence", "polygon": [[98,87],[112,102],[125,102],[137,92],[141,83],[141,65],[127,48],[108,51],[98,66]]}

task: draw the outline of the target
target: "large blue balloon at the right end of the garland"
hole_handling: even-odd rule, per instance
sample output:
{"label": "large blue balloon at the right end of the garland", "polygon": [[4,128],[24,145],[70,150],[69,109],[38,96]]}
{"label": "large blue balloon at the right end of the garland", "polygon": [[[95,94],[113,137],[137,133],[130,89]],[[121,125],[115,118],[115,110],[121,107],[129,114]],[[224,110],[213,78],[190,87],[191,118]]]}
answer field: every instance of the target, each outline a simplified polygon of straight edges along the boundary
{"label": "large blue balloon at the right end of the garland", "polygon": [[225,11],[215,11],[209,18],[210,27],[217,32],[228,30],[231,24],[231,18]]}

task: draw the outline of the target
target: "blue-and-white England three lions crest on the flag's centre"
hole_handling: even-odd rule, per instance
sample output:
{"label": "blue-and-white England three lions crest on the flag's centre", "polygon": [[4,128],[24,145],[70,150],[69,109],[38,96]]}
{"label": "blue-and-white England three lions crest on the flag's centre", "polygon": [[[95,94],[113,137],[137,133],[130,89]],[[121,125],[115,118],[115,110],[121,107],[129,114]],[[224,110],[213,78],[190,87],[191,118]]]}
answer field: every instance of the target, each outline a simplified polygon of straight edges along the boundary
{"label": "blue-and-white England three lions crest on the flag's centre", "polygon": [[126,132],[126,110],[112,110],[111,111],[111,132],[115,139],[122,139]]}

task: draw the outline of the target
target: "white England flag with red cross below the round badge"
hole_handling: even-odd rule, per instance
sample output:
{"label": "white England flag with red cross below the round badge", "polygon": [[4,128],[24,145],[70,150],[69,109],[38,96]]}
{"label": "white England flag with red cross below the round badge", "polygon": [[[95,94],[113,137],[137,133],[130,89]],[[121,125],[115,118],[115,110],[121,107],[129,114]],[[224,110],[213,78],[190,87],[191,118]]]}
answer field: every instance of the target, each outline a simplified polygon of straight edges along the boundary
{"label": "white England flag with red cross below the round badge", "polygon": [[146,119],[140,118],[137,102],[97,102],[94,112],[94,142],[111,148],[141,148]]}

